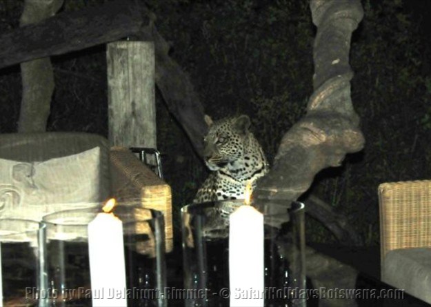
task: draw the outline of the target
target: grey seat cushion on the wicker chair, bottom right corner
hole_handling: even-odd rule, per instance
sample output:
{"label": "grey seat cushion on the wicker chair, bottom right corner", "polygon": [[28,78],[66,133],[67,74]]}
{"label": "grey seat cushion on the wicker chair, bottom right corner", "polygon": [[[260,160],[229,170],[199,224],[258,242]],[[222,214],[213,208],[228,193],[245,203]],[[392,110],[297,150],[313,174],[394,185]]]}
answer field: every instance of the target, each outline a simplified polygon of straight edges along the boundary
{"label": "grey seat cushion on the wicker chair, bottom right corner", "polygon": [[431,248],[390,250],[381,269],[386,284],[431,304]]}

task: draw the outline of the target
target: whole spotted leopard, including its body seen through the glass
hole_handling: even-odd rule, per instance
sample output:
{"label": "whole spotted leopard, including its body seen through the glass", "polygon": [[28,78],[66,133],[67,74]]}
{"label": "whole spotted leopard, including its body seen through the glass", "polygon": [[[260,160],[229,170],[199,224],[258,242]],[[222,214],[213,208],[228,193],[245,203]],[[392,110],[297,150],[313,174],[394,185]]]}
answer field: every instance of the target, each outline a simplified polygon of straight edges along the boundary
{"label": "whole spotted leopard, including its body seen through the glass", "polygon": [[[205,115],[208,132],[203,138],[203,161],[210,175],[197,191],[192,203],[194,206],[213,206],[203,209],[206,215],[205,226],[199,226],[206,239],[220,239],[229,233],[229,217],[245,199],[248,188],[254,190],[257,180],[269,171],[259,141],[250,131],[248,115],[225,117],[212,121]],[[186,246],[194,246],[194,221],[190,215],[183,216]]]}

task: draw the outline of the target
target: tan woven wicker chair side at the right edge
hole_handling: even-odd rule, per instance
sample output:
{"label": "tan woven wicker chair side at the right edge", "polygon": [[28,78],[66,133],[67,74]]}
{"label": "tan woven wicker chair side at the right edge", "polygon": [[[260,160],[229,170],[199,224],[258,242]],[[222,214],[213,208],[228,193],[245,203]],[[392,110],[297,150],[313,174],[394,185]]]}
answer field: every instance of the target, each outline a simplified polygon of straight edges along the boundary
{"label": "tan woven wicker chair side at the right edge", "polygon": [[398,248],[431,247],[431,180],[379,186],[381,261]]}

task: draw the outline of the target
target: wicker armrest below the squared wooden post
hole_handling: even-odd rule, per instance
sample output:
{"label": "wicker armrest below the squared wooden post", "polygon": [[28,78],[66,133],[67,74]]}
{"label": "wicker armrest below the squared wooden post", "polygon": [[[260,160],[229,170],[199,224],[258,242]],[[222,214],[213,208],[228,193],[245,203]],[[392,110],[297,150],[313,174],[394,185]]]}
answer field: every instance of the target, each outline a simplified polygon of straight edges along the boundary
{"label": "wicker armrest below the squared wooden post", "polygon": [[112,195],[121,202],[138,203],[163,212],[166,251],[172,250],[172,196],[170,186],[144,165],[127,148],[110,150]]}

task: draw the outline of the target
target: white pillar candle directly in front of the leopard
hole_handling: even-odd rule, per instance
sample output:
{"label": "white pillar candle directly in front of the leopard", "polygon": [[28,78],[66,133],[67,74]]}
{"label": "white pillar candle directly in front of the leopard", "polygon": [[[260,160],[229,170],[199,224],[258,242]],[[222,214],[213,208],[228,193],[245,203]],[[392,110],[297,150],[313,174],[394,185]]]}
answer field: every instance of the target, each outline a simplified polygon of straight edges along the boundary
{"label": "white pillar candle directly in front of the leopard", "polygon": [[229,228],[230,307],[263,307],[263,215],[240,206]]}

